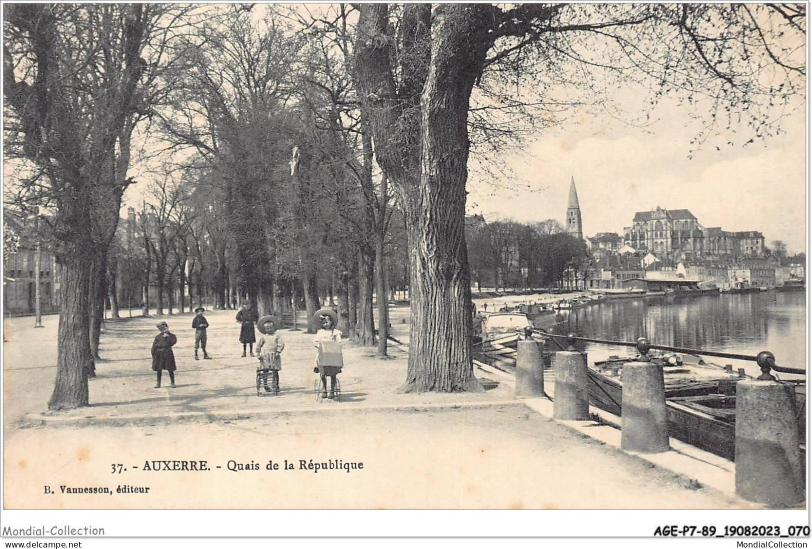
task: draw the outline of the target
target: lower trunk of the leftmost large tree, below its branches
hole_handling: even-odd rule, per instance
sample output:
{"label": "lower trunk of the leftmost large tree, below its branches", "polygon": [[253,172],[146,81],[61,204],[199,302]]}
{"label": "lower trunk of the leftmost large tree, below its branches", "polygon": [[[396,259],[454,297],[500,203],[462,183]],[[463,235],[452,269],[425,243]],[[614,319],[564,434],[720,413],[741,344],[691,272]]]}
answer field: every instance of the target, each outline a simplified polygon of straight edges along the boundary
{"label": "lower trunk of the leftmost large tree, below its branches", "polygon": [[91,261],[83,255],[61,258],[59,345],[56,383],[49,410],[88,405],[88,367],[91,363],[89,285]]}

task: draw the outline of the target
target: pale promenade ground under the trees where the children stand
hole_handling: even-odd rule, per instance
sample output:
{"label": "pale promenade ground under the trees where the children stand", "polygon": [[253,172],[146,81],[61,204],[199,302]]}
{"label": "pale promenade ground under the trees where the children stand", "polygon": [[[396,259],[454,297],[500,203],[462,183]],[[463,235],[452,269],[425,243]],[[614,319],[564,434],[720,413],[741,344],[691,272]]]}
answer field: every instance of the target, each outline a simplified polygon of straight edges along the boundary
{"label": "pale promenade ground under the trees where the children stand", "polygon": [[[395,309],[395,322],[404,317],[404,307]],[[381,359],[373,348],[345,341],[345,367],[339,375],[339,402],[317,402],[313,373],[313,335],[304,331],[280,330],[285,341],[278,396],[261,392],[257,396],[257,358],[241,358],[240,324],[233,311],[209,311],[209,354],[212,360],[194,359],[193,315],[164,316],[178,337],[173,348],[178,371],[176,388],[169,388],[163,375],[162,388],[154,388],[155,374],[149,356],[153,337],[158,333],[157,318],[108,320],[102,335],[97,362],[97,377],[89,381],[89,408],[47,412],[47,401],[56,371],[56,317],[45,317],[41,330],[11,326],[11,341],[6,343],[6,414],[12,422],[37,424],[86,424],[89,422],[153,421],[159,406],[162,418],[194,418],[280,412],[317,412],[326,407],[343,409],[399,409],[451,405],[488,405],[512,401],[512,389],[497,386],[482,393],[401,394],[406,378],[407,354],[399,345],[391,345],[390,358]],[[23,324],[31,319],[12,320]],[[407,324],[395,324],[395,337],[408,340]],[[30,332],[37,344],[15,333]],[[257,336],[259,332],[257,332]],[[202,357],[202,354],[201,354]],[[32,383],[33,382],[33,383]]]}

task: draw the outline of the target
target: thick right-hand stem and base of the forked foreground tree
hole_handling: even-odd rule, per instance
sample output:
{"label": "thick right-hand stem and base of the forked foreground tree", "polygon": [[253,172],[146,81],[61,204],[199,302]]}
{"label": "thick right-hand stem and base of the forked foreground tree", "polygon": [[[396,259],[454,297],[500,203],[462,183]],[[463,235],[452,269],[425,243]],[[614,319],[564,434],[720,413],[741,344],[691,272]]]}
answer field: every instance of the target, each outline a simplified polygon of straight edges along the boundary
{"label": "thick right-hand stem and base of the forked foreground tree", "polygon": [[421,178],[407,215],[412,325],[404,391],[482,390],[473,375],[471,280],[465,247],[468,110],[487,45],[479,7],[434,14],[421,97]]}

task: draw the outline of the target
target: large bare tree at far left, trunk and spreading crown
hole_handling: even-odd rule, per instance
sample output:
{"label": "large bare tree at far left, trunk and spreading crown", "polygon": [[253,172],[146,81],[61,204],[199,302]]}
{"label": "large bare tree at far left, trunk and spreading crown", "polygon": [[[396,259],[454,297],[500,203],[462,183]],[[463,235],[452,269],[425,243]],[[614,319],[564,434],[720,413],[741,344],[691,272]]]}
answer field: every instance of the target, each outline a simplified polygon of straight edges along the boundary
{"label": "large bare tree at far left, trunk and spreading crown", "polygon": [[[188,6],[15,4],[3,21],[6,155],[32,165],[26,195],[53,208],[62,265],[57,375],[49,408],[88,404],[91,333],[130,162],[167,46]],[[183,24],[188,24],[184,21]],[[95,290],[94,290],[95,288]],[[93,307],[91,308],[91,300]]]}

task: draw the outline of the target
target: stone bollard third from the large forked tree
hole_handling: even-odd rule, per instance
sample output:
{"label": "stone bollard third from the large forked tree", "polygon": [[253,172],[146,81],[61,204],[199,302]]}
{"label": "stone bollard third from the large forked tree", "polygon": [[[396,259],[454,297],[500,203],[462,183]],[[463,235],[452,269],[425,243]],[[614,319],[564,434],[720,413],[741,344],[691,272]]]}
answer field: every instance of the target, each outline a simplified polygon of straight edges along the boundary
{"label": "stone bollard third from the large forked tree", "polygon": [[620,448],[629,452],[658,453],[668,450],[668,421],[663,368],[648,357],[645,337],[637,340],[640,357],[623,365]]}

